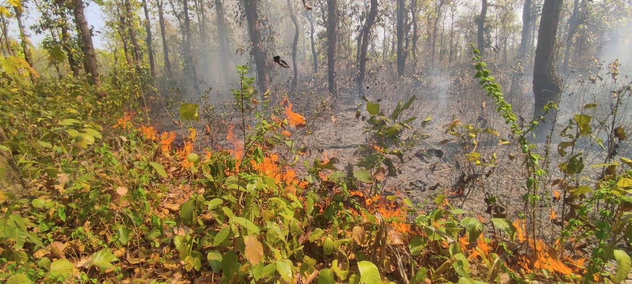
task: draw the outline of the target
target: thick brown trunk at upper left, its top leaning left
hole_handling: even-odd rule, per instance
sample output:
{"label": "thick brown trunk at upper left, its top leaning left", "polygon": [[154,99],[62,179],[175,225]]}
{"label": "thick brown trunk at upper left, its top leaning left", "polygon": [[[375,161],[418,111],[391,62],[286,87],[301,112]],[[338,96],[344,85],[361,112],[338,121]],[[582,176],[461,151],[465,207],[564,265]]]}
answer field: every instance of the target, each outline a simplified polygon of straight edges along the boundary
{"label": "thick brown trunk at upper left, its top leaning left", "polygon": [[85,20],[85,14],[83,13],[83,1],[73,0],[73,6],[75,8],[77,30],[83,42],[85,71],[90,73],[90,83],[100,88],[101,79],[99,77],[99,67],[97,66],[97,54],[94,51],[94,45],[92,45],[92,34],[88,28],[88,21]]}

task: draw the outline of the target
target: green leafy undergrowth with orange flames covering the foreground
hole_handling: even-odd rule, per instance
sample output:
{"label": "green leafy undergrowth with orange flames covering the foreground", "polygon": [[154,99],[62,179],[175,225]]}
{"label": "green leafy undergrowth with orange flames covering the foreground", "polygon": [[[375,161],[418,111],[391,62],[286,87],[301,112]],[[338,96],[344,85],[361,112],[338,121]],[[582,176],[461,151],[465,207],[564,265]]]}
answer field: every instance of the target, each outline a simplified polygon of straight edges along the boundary
{"label": "green leafy undergrowth with orange flames covering the foreground", "polygon": [[[477,66],[490,81],[489,71]],[[241,123],[227,136],[233,147],[200,150],[195,150],[204,145],[197,104],[181,104],[178,122],[191,127],[180,134],[183,143],[174,145],[176,133],[159,133],[142,115],[123,112],[124,105],[138,101],[128,92],[133,87],[94,90],[70,79],[31,85],[4,78],[9,88],[0,93],[9,103],[0,115],[6,136],[0,151],[15,167],[3,170],[16,170],[23,189],[0,189],[0,279],[10,284],[506,283],[579,282],[590,271],[617,282],[629,271],[628,254],[605,244],[588,266],[571,266],[575,258],[553,256],[550,250],[541,253],[523,229],[526,217],[508,220],[490,213],[485,220],[454,208],[443,194],[434,199],[434,210],[423,212],[389,193],[388,178],[427,138],[411,124],[415,97],[394,110],[366,102],[368,139],[358,145],[363,158],[344,172],[335,158],[297,162],[303,149],[293,136],[301,134],[303,117],[287,101],[264,107],[269,94],[258,96],[248,68],[238,71],[241,88],[233,94]],[[499,100],[496,86],[489,85],[489,92]],[[500,105],[511,122],[511,107]],[[466,132],[458,133],[456,126]],[[472,139],[485,131],[455,123],[447,132]],[[630,162],[621,161],[628,165],[617,164],[586,205],[601,204],[601,216],[609,218],[604,220],[620,222],[593,228],[604,242],[609,237],[604,234],[623,239],[629,232],[629,210],[623,207],[629,203],[625,192],[632,172]],[[617,170],[623,167],[628,168]],[[586,194],[583,187],[579,193],[580,188],[568,190],[578,198]],[[610,211],[603,204],[617,217],[606,216]],[[532,251],[525,249],[531,245]],[[602,267],[597,259],[616,259],[615,273],[595,270]]]}

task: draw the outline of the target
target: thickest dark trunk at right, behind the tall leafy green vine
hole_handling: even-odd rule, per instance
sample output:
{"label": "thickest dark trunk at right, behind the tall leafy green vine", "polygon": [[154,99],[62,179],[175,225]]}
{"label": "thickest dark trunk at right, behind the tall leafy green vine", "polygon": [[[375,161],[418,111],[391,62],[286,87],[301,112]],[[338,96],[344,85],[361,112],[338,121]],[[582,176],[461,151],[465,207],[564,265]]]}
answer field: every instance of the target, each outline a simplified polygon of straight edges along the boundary
{"label": "thickest dark trunk at right, behind the tall leafy green vine", "polygon": [[[542,5],[542,18],[540,18],[538,44],[535,48],[533,65],[534,119],[542,114],[541,110],[548,102],[557,101],[562,90],[562,80],[557,74],[555,63],[557,23],[561,9],[562,0],[544,0]],[[538,141],[543,141],[546,137],[552,126],[550,121],[555,117],[555,114],[555,110],[550,110],[544,121],[538,126],[536,134]]]}

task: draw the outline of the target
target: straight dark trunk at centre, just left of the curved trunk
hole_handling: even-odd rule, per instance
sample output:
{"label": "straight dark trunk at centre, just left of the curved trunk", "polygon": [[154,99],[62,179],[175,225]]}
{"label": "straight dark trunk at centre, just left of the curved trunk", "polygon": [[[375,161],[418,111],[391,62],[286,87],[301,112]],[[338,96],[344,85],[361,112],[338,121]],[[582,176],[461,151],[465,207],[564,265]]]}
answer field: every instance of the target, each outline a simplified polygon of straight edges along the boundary
{"label": "straight dark trunk at centre, just left of the curved trunk", "polygon": [[336,87],[337,6],[337,0],[327,0],[327,78],[329,81],[329,93],[336,97],[338,95]]}

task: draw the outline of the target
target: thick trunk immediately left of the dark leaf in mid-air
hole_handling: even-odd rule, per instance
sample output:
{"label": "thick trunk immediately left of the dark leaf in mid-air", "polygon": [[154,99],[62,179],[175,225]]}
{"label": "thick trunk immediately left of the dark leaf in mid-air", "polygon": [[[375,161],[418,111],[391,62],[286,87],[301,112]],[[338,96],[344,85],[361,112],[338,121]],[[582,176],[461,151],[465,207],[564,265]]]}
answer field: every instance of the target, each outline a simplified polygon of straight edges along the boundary
{"label": "thick trunk immediately left of the dark leaf in mid-air", "polygon": [[257,66],[257,84],[259,92],[264,93],[270,90],[270,77],[268,74],[267,63],[265,62],[264,42],[261,39],[261,27],[259,25],[258,16],[258,0],[243,0],[245,5],[246,20],[248,21],[248,33],[250,33],[250,42],[252,49],[250,54],[255,59]]}

